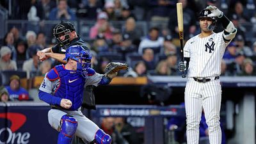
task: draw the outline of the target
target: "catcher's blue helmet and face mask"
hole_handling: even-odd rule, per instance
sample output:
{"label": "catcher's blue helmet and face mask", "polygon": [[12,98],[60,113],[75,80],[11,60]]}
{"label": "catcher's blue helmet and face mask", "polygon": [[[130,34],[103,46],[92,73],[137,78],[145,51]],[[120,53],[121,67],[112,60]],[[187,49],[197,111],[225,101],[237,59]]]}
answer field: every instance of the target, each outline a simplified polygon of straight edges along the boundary
{"label": "catcher's blue helmet and face mask", "polygon": [[88,77],[88,69],[91,67],[92,55],[85,51],[81,45],[72,45],[68,47],[63,60],[72,59],[77,61],[77,72],[84,78]]}

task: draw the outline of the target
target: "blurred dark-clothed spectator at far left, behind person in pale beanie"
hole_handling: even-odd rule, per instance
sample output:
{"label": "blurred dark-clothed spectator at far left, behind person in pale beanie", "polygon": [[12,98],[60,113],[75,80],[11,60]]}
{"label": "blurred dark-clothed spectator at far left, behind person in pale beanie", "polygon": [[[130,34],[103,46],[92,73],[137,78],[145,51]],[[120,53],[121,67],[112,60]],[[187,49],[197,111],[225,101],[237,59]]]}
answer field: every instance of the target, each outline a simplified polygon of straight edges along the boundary
{"label": "blurred dark-clothed spectator at far left, behind person in pale beanie", "polygon": [[15,49],[15,43],[14,43],[14,35],[12,32],[6,33],[4,36],[4,45],[9,47],[12,51],[12,60],[16,61],[17,59],[17,51]]}

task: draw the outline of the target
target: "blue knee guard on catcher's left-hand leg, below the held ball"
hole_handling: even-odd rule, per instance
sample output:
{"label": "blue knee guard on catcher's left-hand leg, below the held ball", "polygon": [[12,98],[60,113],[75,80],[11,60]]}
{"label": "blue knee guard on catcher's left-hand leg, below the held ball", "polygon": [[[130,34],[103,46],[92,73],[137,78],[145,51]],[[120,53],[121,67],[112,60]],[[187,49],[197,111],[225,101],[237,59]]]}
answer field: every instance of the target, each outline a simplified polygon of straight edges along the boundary
{"label": "blue knee guard on catcher's left-hand leg, below the held ball", "polygon": [[61,133],[72,138],[77,129],[77,120],[71,115],[63,115],[61,117]]}

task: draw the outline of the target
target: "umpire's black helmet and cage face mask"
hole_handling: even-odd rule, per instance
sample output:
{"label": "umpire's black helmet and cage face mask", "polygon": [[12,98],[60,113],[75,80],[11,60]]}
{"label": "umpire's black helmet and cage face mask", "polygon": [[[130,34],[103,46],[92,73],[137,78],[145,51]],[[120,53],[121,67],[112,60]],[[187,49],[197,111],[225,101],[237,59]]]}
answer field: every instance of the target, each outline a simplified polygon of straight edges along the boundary
{"label": "umpire's black helmet and cage face mask", "polygon": [[63,49],[67,49],[66,46],[70,43],[70,36],[68,34],[72,31],[76,31],[76,29],[71,22],[60,22],[60,24],[54,27],[53,35]]}

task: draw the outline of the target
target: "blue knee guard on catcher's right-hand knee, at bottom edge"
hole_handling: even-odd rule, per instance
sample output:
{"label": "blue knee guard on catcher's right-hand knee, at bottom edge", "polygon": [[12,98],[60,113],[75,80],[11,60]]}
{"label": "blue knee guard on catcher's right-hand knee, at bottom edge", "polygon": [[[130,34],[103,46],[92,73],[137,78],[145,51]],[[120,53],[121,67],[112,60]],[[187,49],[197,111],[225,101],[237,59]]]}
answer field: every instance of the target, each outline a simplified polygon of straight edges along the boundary
{"label": "blue knee guard on catcher's right-hand knee, at bottom edge", "polygon": [[95,133],[95,141],[97,144],[110,144],[112,139],[111,136],[109,136],[108,134],[106,134],[102,129],[99,129],[96,133]]}

